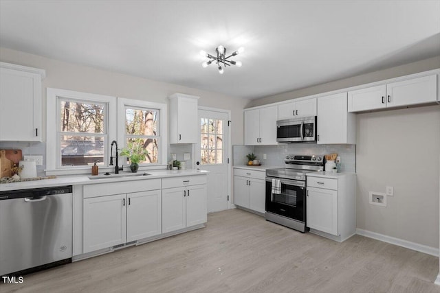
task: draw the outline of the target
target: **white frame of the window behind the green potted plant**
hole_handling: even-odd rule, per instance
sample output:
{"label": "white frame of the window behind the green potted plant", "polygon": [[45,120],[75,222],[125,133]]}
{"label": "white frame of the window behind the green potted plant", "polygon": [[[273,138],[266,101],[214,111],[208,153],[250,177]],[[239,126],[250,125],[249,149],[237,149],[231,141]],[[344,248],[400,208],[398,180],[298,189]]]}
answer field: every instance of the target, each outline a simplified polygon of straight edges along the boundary
{"label": "white frame of the window behind the green potted plant", "polygon": [[[140,169],[154,169],[161,165],[166,165],[166,154],[168,150],[168,139],[166,123],[167,119],[167,106],[166,104],[142,101],[140,99],[126,99],[124,97],[118,97],[118,146],[120,148],[126,148],[126,131],[125,131],[125,109],[126,108],[144,108],[157,110],[159,115],[157,139],[159,139],[159,148],[157,149],[157,163],[141,163]],[[120,145],[119,145],[120,143]]]}

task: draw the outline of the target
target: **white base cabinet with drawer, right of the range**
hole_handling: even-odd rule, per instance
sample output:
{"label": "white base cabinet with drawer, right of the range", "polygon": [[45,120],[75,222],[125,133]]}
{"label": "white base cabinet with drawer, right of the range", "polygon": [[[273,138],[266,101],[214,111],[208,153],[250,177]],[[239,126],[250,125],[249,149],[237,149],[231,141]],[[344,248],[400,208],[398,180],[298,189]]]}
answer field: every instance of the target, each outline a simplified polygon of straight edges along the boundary
{"label": "white base cabinet with drawer, right of the range", "polygon": [[356,177],[351,173],[307,174],[307,227],[342,242],[356,231]]}

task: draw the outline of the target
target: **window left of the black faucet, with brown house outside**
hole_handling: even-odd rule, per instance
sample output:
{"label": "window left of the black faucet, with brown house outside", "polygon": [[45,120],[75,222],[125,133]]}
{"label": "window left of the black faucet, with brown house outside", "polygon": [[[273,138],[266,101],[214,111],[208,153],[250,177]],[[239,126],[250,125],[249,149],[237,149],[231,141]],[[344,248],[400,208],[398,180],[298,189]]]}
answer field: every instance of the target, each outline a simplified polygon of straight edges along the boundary
{"label": "window left of the black faucet, with brown house outside", "polygon": [[57,154],[61,166],[104,164],[107,144],[107,104],[58,97]]}

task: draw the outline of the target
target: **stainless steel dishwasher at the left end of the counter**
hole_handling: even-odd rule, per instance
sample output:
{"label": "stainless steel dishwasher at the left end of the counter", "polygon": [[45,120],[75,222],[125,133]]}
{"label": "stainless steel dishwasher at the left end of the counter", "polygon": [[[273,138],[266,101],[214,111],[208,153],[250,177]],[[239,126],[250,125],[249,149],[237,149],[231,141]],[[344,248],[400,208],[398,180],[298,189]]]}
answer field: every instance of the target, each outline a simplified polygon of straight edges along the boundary
{"label": "stainless steel dishwasher at the left end of the counter", "polygon": [[0,276],[72,262],[72,186],[0,192]]}

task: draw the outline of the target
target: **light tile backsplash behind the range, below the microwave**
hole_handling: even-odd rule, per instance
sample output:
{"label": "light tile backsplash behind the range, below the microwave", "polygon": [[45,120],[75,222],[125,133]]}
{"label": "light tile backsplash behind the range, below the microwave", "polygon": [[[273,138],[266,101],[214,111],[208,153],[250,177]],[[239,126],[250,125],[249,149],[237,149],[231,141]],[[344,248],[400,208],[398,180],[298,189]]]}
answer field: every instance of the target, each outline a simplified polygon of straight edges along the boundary
{"label": "light tile backsplash behind the range, below the microwave", "polygon": [[[356,145],[318,145],[316,143],[283,143],[279,145],[233,145],[233,164],[244,165],[246,154],[253,152],[263,165],[283,166],[287,154],[331,154],[341,157],[342,172],[356,172]],[[263,160],[263,154],[267,159]]]}

